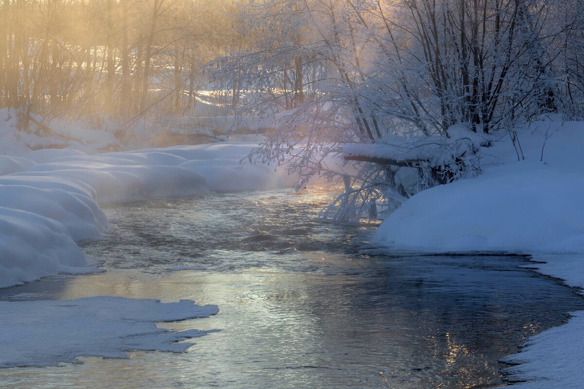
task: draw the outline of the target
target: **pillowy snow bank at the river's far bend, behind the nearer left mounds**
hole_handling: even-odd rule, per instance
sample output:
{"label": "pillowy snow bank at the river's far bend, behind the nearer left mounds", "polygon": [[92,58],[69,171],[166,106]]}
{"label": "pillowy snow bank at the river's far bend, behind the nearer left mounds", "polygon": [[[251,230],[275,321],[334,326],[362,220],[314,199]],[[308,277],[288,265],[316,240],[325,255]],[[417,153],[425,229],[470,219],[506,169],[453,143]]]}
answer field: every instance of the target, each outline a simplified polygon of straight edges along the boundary
{"label": "pillowy snow bank at the river's far bend, behind the nearer left mounds", "polygon": [[257,147],[253,142],[220,142],[85,155],[77,150],[36,150],[26,155],[37,162],[21,177],[61,177],[83,181],[97,201],[128,201],[197,192],[260,190],[292,185],[283,169],[241,164]]}

